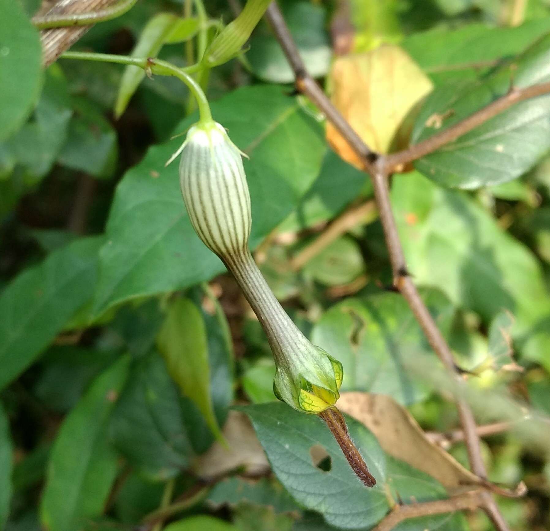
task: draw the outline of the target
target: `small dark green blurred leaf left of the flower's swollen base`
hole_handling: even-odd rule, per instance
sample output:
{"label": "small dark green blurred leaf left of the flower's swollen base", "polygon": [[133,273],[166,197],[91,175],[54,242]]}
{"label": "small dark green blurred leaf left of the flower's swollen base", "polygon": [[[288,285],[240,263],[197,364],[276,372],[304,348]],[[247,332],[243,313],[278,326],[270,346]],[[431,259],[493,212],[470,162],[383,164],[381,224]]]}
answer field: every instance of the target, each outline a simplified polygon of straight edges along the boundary
{"label": "small dark green blurred leaf left of the flower's swollen base", "polygon": [[73,108],[59,163],[95,177],[111,177],[117,162],[117,133],[89,100],[73,98]]}

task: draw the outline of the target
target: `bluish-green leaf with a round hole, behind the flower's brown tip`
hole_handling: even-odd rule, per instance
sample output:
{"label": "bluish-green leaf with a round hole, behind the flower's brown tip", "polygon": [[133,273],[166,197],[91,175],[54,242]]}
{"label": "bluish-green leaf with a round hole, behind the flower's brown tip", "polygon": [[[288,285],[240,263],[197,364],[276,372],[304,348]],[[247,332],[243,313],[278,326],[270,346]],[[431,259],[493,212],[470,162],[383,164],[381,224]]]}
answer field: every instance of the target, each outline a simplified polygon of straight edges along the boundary
{"label": "bluish-green leaf with a round hole, behind the flower's brown tip", "polygon": [[[404,503],[447,497],[436,480],[385,455],[370,431],[349,417],[346,421],[351,439],[377,479],[372,489],[357,480],[327,426],[314,415],[301,414],[280,402],[239,409],[249,415],[273,472],[289,494],[305,508],[320,512],[328,524],[366,530],[389,511],[389,496],[396,502],[400,497]],[[313,464],[313,455],[321,450],[329,458],[328,463],[327,459],[323,461],[328,470]],[[453,515],[428,517],[411,530],[463,530],[462,522],[461,517]],[[401,527],[405,529],[409,530]]]}

